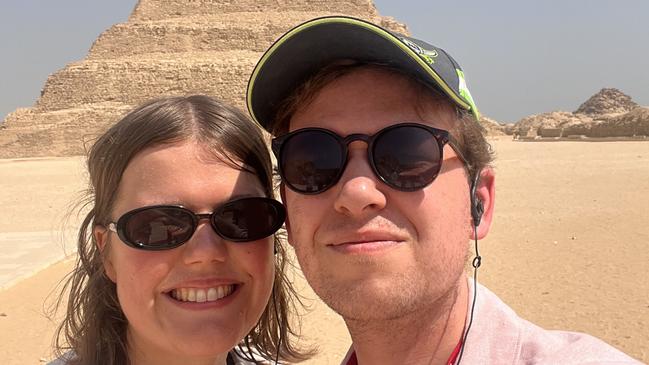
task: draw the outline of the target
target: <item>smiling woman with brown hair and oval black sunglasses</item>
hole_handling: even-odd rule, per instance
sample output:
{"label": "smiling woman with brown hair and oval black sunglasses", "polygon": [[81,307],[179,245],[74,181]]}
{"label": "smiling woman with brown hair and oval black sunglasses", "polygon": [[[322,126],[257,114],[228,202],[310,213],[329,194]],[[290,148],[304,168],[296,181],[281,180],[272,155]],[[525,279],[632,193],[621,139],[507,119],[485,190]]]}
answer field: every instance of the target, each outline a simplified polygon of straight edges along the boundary
{"label": "smiling woman with brown hair and oval black sunglasses", "polygon": [[285,213],[249,119],[206,96],[154,100],[96,141],[88,172],[59,363],[309,357],[289,337]]}

